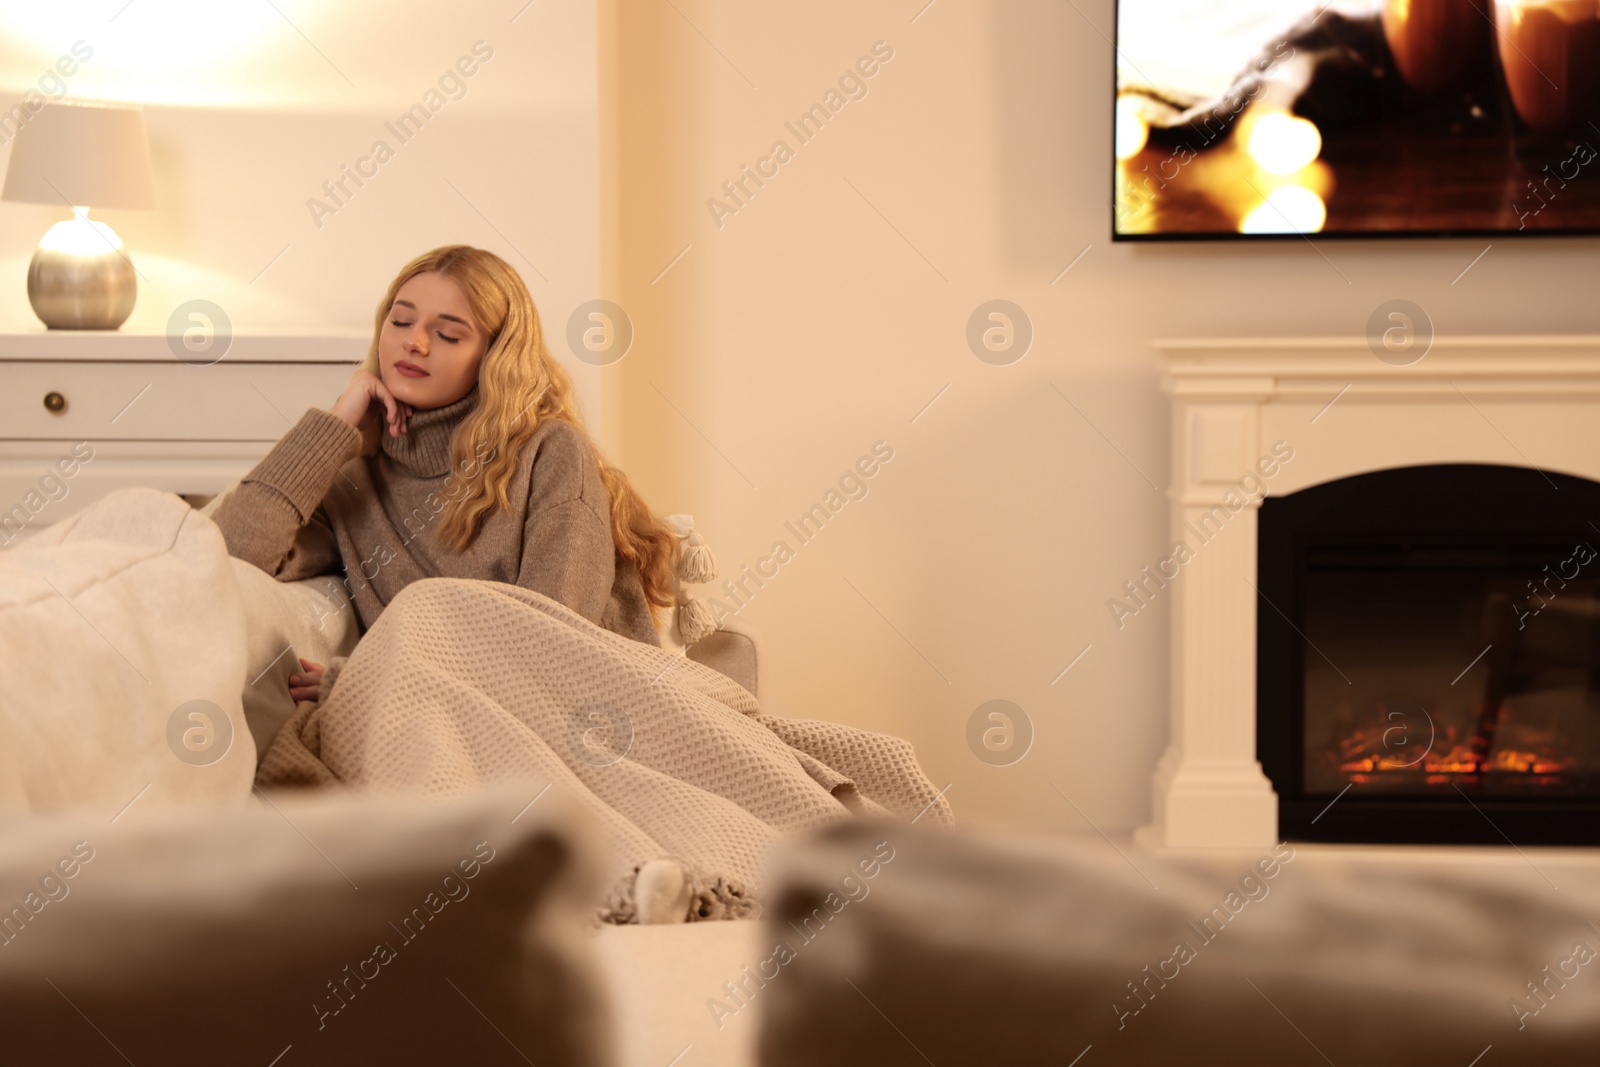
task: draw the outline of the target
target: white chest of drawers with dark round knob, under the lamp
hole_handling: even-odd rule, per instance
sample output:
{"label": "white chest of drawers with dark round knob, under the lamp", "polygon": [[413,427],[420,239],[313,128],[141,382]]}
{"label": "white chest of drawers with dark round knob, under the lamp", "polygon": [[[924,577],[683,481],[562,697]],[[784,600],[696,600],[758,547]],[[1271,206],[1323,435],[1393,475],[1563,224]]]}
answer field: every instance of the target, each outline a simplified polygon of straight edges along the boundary
{"label": "white chest of drawers with dark round knob, under the lamp", "polygon": [[0,549],[112,490],[219,493],[306,408],[330,408],[368,344],[365,331],[242,333],[210,362],[165,334],[0,334]]}

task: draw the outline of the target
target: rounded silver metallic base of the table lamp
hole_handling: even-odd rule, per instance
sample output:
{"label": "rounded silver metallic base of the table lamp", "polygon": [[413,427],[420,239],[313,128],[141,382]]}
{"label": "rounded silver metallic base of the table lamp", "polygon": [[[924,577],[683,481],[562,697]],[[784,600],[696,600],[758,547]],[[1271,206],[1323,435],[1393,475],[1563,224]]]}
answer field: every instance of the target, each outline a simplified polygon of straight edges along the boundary
{"label": "rounded silver metallic base of the table lamp", "polygon": [[51,330],[115,330],[133,314],[138,274],[122,238],[104,222],[56,222],[27,264],[27,302]]}

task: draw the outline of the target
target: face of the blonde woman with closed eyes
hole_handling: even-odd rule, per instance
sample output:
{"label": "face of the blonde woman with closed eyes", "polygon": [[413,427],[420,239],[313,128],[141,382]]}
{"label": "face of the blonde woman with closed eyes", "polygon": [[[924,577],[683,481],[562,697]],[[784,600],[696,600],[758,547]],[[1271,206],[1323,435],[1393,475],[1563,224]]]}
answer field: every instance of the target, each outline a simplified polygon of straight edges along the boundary
{"label": "face of the blonde woman with closed eyes", "polygon": [[485,347],[467,294],[430,270],[395,293],[378,334],[378,376],[400,403],[419,411],[443,408],[478,381]]}

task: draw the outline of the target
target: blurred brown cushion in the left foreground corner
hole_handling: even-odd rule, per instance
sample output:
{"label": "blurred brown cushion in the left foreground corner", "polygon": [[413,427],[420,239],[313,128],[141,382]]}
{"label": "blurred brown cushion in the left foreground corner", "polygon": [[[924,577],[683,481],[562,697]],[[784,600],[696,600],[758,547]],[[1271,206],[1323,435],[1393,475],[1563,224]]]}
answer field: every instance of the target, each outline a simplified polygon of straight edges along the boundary
{"label": "blurred brown cushion in the left foreground corner", "polygon": [[0,824],[0,1062],[614,1062],[598,827],[536,792]]}

